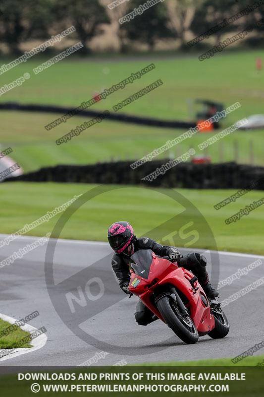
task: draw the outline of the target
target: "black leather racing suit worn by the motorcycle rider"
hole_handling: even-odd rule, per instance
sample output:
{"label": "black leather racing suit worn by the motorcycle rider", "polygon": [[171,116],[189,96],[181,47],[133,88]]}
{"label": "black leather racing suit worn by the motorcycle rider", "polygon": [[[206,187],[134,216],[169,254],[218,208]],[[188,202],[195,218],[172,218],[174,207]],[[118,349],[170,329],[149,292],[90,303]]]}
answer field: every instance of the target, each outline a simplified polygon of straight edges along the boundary
{"label": "black leather racing suit worn by the motorcycle rider", "polygon": [[[162,246],[157,243],[155,240],[152,240],[148,237],[143,238],[134,238],[132,242],[132,253],[138,250],[152,250],[156,255],[160,257],[169,256],[175,252],[178,252],[176,247],[171,246]],[[131,255],[132,255],[131,253]],[[129,260],[130,256],[121,253],[114,254],[112,257],[112,268],[115,272],[116,277],[119,280],[119,285],[122,291],[126,294],[129,294],[128,285],[130,281],[130,271],[129,271]],[[197,253],[191,253],[184,256],[182,259],[177,261],[179,266],[183,266],[188,270],[192,270],[192,272],[198,277],[199,282],[206,281],[207,272],[205,269],[206,266],[206,258]],[[147,325],[153,321],[152,319],[153,313],[139,300],[135,318],[139,325]]]}

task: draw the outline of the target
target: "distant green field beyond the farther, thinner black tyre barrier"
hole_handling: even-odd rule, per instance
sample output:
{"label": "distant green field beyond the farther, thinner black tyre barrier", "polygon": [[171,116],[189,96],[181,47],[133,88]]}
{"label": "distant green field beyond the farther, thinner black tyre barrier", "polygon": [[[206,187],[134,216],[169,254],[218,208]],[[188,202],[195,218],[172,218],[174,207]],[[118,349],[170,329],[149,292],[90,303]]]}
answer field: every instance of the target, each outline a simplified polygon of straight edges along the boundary
{"label": "distant green field beyond the farther, thinner black tyre barrier", "polygon": [[[199,54],[197,54],[198,56]],[[255,61],[261,50],[224,53],[204,62],[198,58],[175,60],[151,59],[135,62],[93,62],[91,58],[70,58],[63,60],[35,75],[33,68],[44,62],[43,58],[31,58],[1,76],[8,83],[25,72],[31,78],[0,97],[0,102],[19,101],[21,103],[43,103],[78,106],[90,99],[95,92],[117,84],[132,72],[154,62],[156,69],[111,94],[94,109],[105,110],[137,92],[139,89],[161,78],[163,85],[140,100],[132,102],[125,112],[161,118],[187,119],[186,101],[188,98],[203,97],[222,101],[226,105],[241,101],[242,108],[229,117],[229,121],[242,118],[245,113],[261,113],[262,84],[264,73],[255,73]],[[47,59],[48,55],[47,55]],[[2,63],[7,63],[2,60]],[[104,74],[108,68],[108,74]],[[151,106],[150,106],[151,105]]]}

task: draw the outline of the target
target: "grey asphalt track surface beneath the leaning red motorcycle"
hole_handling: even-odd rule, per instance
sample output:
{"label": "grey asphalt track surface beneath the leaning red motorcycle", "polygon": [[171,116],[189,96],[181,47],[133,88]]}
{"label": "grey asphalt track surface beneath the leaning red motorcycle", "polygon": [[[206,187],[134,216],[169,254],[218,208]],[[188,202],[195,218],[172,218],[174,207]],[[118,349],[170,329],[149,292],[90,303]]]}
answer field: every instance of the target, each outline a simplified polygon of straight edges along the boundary
{"label": "grey asphalt track surface beneath the leaning red motorcycle", "polygon": [[[6,235],[0,235],[0,240],[4,237]],[[36,240],[35,237],[17,238],[8,246],[0,248],[0,261]],[[60,315],[53,307],[45,279],[46,248],[47,244],[37,247],[21,259],[15,260],[13,264],[0,268],[0,312],[21,319],[38,310],[40,316],[29,324],[36,328],[46,327],[48,341],[44,347],[35,352],[5,361],[0,360],[0,366],[76,366],[104,350],[102,348],[104,342],[113,348],[104,359],[94,365],[114,365],[120,360],[132,364],[217,357],[233,358],[264,340],[263,286],[225,306],[224,311],[230,323],[227,337],[213,340],[209,336],[203,336],[196,344],[187,345],[161,321],[156,321],[147,327],[136,324],[134,311],[138,298],[133,296],[129,299],[128,295],[120,290],[110,265],[111,250],[106,243],[58,240],[53,268],[55,283],[61,283],[64,288],[60,290],[61,299],[65,300],[66,292],[76,293],[77,286],[83,285],[84,269],[87,270],[89,279],[89,267],[93,269],[90,277],[101,277],[104,283],[108,282],[110,285],[104,292],[104,298],[110,302],[107,309],[104,303],[102,310],[97,314],[92,310],[91,316],[94,302],[90,301],[89,304],[81,307],[80,327],[94,337],[92,340],[88,337],[84,341],[61,320],[63,317],[69,324],[72,321],[69,306],[62,305]],[[181,249],[182,253],[188,251],[190,250]],[[196,251],[202,252],[202,250]],[[210,254],[205,253],[205,255],[210,262]],[[219,258],[220,280],[257,259],[264,262],[262,256],[234,253],[219,253]],[[221,300],[263,277],[263,267],[262,264],[247,275],[234,280],[232,284],[222,287]],[[211,274],[210,263],[208,271]],[[91,285],[91,293],[96,296],[98,292],[92,287]],[[111,304],[111,302],[115,303]],[[77,308],[80,306],[76,302],[74,304]],[[100,299],[96,304],[100,307]],[[118,346],[118,354],[115,353],[114,346]],[[131,354],[133,348],[136,354]],[[264,354],[264,348],[255,354]]]}

